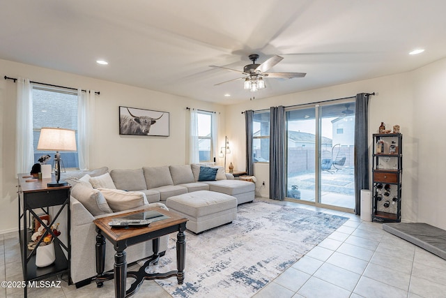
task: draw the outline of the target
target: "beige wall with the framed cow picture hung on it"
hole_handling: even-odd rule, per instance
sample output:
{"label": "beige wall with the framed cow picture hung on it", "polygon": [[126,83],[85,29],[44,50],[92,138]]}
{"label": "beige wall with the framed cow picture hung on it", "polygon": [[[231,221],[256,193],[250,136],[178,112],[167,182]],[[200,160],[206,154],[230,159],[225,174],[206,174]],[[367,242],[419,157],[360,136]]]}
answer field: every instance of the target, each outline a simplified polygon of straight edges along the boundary
{"label": "beige wall with the framed cow picture hung on it", "polygon": [[[186,107],[220,112],[219,135],[222,137],[219,144],[224,144],[225,108],[222,105],[5,60],[0,60],[0,70],[0,233],[17,230],[18,226],[17,180],[14,174],[16,84],[11,80],[3,80],[4,75],[100,91],[100,96],[96,96],[95,101],[91,168],[107,166],[112,170],[187,163],[186,135],[189,126]],[[170,136],[119,135],[119,105],[169,112]]]}

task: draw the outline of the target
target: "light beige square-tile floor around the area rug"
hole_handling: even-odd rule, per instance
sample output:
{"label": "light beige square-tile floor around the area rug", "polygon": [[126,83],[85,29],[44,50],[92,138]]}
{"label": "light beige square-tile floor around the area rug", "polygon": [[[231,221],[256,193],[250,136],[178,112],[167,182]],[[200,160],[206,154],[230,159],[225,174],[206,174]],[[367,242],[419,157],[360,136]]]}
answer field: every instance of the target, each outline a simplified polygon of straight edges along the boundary
{"label": "light beige square-tile floor around the area rug", "polygon": [[[380,223],[361,221],[359,216],[340,211],[297,205],[350,219],[254,298],[446,297],[446,260],[383,231]],[[112,282],[106,282],[103,288],[91,283],[76,289],[64,278],[52,279],[62,280],[61,288],[29,289],[29,297],[114,297]],[[0,280],[22,281],[17,232],[0,234]],[[23,290],[1,288],[1,297],[23,297]],[[145,281],[134,297],[171,296],[154,281]],[[236,293],[233,297],[237,297]]]}

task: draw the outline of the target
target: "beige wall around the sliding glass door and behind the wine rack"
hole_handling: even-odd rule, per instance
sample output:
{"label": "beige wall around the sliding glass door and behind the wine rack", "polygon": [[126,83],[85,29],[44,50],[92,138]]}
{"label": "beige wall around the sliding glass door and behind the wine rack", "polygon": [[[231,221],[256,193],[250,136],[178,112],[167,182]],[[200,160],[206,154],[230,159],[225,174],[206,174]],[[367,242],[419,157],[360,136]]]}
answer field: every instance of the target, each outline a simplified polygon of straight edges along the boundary
{"label": "beige wall around the sliding glass door and behind the wine rack", "polygon": [[[378,132],[380,122],[387,128],[401,126],[403,134],[402,218],[408,222],[424,222],[446,229],[446,200],[443,181],[446,180],[446,159],[443,151],[446,139],[446,59],[408,73],[373,80],[342,84],[323,89],[247,101],[231,105],[226,110],[226,132],[237,144],[232,161],[236,168],[245,167],[244,110],[268,109],[277,105],[296,105],[332,98],[354,96],[361,92],[376,92],[369,105],[369,140]],[[233,146],[235,149],[236,146]],[[256,193],[269,196],[269,166],[256,164]],[[265,181],[266,186],[261,186]]]}

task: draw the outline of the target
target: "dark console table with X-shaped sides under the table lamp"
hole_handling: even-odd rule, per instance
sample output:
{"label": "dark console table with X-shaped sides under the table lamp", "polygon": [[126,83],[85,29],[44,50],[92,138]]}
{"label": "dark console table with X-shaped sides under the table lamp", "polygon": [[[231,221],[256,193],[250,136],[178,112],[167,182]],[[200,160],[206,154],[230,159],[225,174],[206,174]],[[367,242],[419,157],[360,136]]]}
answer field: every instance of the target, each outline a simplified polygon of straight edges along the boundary
{"label": "dark console table with X-shaped sides under the table lamp", "polygon": [[[49,179],[35,179],[29,174],[19,174],[18,177],[18,201],[19,201],[19,239],[20,251],[22,253],[22,269],[23,278],[26,282],[24,287],[24,297],[27,295],[28,281],[38,281],[47,278],[54,274],[68,273],[68,281],[70,281],[70,188],[71,186],[48,187],[47,184],[54,181],[54,177]],[[51,221],[45,225],[36,214],[43,211],[45,215],[49,215],[49,207],[59,206],[59,211],[53,215]],[[67,225],[66,230],[61,232],[66,233],[65,237],[67,243],[61,241],[61,236],[57,237],[50,229],[52,225],[58,223],[58,218],[61,212],[67,211]],[[31,225],[31,216],[45,227],[45,233],[51,234],[54,238],[54,252],[56,260],[52,265],[47,267],[36,266],[36,251],[38,246],[32,250],[28,249],[28,243],[31,241],[33,234]],[[65,239],[65,237],[63,237]],[[42,240],[38,242],[40,244]]]}

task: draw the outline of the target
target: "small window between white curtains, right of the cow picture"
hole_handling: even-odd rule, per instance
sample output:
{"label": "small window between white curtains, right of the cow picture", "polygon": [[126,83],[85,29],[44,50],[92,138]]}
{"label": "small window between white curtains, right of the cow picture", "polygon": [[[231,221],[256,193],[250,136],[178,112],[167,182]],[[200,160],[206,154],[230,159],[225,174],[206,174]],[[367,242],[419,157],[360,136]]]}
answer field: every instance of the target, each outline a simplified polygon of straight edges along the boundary
{"label": "small window between white curtains, right of the cow picture", "polygon": [[212,148],[212,116],[211,112],[199,111],[198,120],[198,148],[200,163],[213,161]]}

